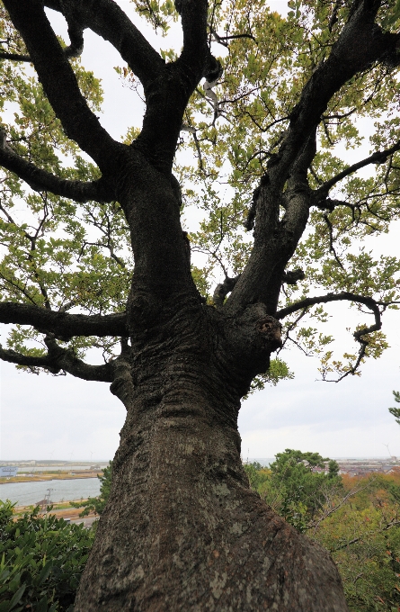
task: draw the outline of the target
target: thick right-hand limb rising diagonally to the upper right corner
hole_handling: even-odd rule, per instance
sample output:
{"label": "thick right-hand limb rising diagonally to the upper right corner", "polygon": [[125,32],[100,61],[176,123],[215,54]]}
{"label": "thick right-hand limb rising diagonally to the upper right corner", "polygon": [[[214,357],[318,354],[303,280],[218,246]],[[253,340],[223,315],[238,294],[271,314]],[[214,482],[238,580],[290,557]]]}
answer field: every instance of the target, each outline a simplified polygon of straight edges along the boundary
{"label": "thick right-hand limb rising diagonally to the upper right corner", "polygon": [[[291,112],[280,149],[270,157],[267,173],[254,198],[248,220],[251,227],[256,212],[253,252],[227,299],[225,307],[229,310],[240,311],[245,303],[255,301],[265,303],[271,315],[276,309],[283,271],[306,228],[309,207],[314,203],[307,184],[307,167],[315,155],[315,135],[321,116],[333,94],[351,77],[397,53],[400,35],[385,33],[374,23],[378,6],[375,0],[354,4],[329,57],[316,67]],[[280,207],[286,209],[282,220]]]}

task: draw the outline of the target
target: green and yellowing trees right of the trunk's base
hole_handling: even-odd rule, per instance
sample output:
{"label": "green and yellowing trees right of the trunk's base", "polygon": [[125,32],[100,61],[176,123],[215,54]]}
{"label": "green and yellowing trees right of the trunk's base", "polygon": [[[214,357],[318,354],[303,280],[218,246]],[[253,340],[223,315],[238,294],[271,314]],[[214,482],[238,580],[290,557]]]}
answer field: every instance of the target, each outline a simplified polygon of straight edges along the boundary
{"label": "green and yellowing trees right of the trunk's base", "polygon": [[269,469],[244,469],[263,500],[330,551],[351,611],[400,610],[400,470],[340,476],[336,462],[290,449]]}

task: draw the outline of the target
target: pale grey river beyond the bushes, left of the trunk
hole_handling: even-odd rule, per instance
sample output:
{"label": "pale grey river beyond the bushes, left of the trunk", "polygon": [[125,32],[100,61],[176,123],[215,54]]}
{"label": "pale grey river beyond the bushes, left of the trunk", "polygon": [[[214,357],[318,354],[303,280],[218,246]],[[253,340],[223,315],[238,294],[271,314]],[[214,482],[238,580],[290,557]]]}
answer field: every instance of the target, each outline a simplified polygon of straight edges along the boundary
{"label": "pale grey river beyond the bushes, left of the trunk", "polygon": [[0,484],[0,500],[16,502],[17,506],[30,506],[44,500],[50,491],[51,501],[73,501],[95,497],[100,493],[98,478],[77,478],[68,481],[7,482]]}

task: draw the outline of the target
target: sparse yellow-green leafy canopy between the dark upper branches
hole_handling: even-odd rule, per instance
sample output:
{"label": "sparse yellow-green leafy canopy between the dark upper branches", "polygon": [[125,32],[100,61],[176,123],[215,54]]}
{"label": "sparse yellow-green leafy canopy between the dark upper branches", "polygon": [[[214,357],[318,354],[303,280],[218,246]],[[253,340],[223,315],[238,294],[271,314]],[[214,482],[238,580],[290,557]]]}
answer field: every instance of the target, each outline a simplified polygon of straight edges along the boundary
{"label": "sparse yellow-green leafy canopy between the dark upper branches", "polygon": [[[162,36],[178,20],[171,0],[133,4]],[[214,97],[204,85],[192,95],[174,164],[182,184],[182,219],[190,229],[192,275],[209,303],[218,281],[244,270],[253,247],[253,192],[277,155],[304,86],[338,40],[351,6],[348,0],[292,0],[283,16],[259,0],[209,5],[209,43],[223,74],[213,85]],[[383,2],[377,23],[384,31],[397,31],[398,3]],[[8,40],[8,50],[26,53],[4,8],[0,37]],[[178,50],[164,49],[162,56],[173,61]],[[71,64],[90,108],[102,112],[100,80],[84,70],[79,58]],[[132,83],[128,66],[116,69],[122,81],[130,78]],[[8,146],[59,177],[98,178],[98,168],[62,130],[32,68],[2,59],[0,73],[0,112]],[[133,85],[140,94],[135,81]],[[329,190],[316,201],[289,262],[290,268],[301,268],[304,280],[283,286],[280,308],[326,292],[373,298],[381,311],[396,308],[400,260],[377,257],[369,237],[387,233],[399,216],[399,99],[396,58],[390,57],[370,65],[333,94],[317,129],[316,156],[307,172],[312,189],[329,185]],[[125,142],[138,136],[139,118],[132,121]],[[377,151],[389,152],[349,171],[350,159],[361,162]],[[197,226],[191,220],[193,207],[200,211]],[[283,215],[283,204],[280,212]],[[0,300],[56,311],[124,311],[133,259],[118,202],[80,204],[49,191],[34,192],[2,169],[0,229]],[[369,319],[364,306],[351,306],[361,313],[359,332],[365,330]],[[316,304],[289,313],[284,322],[284,345],[292,342],[307,354],[321,356],[325,378],[357,374],[360,360],[376,358],[387,347],[385,335],[374,330],[364,337],[368,344],[361,356],[354,345],[338,358],[333,337],[321,331],[320,324],[327,320],[324,306]],[[61,345],[76,356],[95,347],[109,360],[115,356],[116,342],[117,338],[77,336]],[[31,356],[47,351],[39,331],[18,325],[7,347]],[[34,366],[19,367],[36,372]],[[272,362],[270,374],[256,380],[255,388],[291,376],[279,358]]]}

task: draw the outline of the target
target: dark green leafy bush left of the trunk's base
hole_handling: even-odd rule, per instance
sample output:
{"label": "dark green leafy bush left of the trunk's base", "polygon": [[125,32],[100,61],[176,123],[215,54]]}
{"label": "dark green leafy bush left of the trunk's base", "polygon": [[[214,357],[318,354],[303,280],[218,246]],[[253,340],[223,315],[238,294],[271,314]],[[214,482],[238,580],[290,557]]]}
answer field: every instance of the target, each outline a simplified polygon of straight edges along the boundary
{"label": "dark green leafy bush left of the trunk's base", "polygon": [[[49,507],[51,509],[51,507]],[[0,612],[71,612],[92,530],[0,500]]]}

